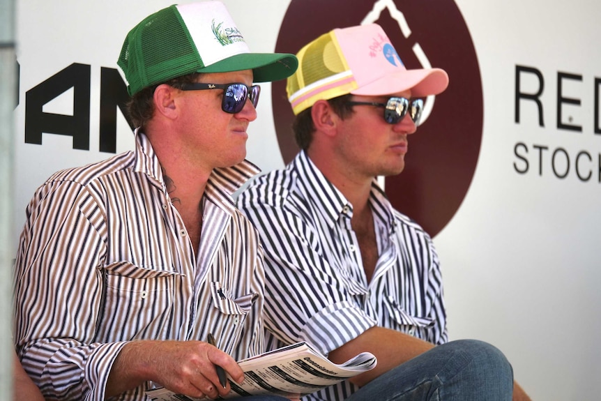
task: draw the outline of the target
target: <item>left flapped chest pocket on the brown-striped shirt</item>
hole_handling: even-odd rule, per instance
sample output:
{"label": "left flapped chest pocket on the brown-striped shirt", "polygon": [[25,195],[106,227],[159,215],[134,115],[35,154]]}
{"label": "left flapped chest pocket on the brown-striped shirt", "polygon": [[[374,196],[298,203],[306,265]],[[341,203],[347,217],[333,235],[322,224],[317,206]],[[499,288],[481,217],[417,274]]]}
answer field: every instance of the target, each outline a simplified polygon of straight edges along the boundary
{"label": "left flapped chest pocket on the brown-striped shirt", "polygon": [[98,337],[107,342],[169,338],[174,324],[176,286],[183,275],[162,266],[131,262],[105,266]]}

